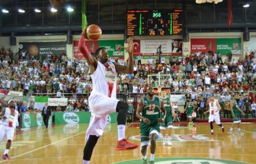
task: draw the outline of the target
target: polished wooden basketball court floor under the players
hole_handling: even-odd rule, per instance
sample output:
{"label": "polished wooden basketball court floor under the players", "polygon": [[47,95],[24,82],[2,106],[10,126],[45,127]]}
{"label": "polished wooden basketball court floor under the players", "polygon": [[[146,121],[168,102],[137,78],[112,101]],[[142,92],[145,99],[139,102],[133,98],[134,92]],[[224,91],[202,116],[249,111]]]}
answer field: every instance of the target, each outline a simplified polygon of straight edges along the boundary
{"label": "polished wooden basketball court floor under the players", "polygon": [[[226,132],[222,133],[221,128],[214,124],[215,136],[212,137],[209,123],[195,123],[193,128],[188,128],[186,122],[175,122],[172,135],[173,145],[163,146],[161,140],[157,142],[156,164],[197,164],[196,162],[157,162],[158,158],[170,158],[171,160],[177,157],[232,160],[228,162],[230,164],[235,164],[235,161],[240,161],[239,164],[246,162],[256,164],[256,123],[242,123],[241,129],[244,135],[233,136],[228,134],[231,123],[223,124]],[[131,142],[139,144],[138,126],[139,123],[127,124],[126,134],[132,136]],[[14,136],[9,152],[12,158],[10,160],[0,159],[0,164],[82,164],[87,127],[88,124],[56,124],[48,129],[44,126],[23,129],[21,132],[16,132]],[[236,129],[234,132],[236,133]],[[116,151],[116,140],[117,125],[108,124],[94,149],[91,164],[142,163],[140,148]],[[6,142],[0,143],[2,154],[5,144]],[[148,157],[150,157],[149,149]],[[198,164],[220,163],[202,160]]]}

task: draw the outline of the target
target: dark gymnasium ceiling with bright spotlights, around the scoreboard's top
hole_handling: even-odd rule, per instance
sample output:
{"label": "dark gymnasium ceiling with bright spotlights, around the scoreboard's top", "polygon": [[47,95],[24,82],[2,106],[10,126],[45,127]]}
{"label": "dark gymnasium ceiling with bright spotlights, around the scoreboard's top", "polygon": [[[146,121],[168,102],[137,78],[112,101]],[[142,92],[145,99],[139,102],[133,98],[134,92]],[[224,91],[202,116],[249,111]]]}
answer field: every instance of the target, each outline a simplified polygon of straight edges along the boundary
{"label": "dark gymnasium ceiling with bright spotlights, around the scoreboard's top", "polygon": [[[57,8],[56,14],[50,12],[49,0],[0,0],[0,9],[10,12],[2,15],[2,26],[46,26],[56,24],[81,25],[81,0],[66,0],[74,12],[69,13],[64,6]],[[196,0],[87,0],[86,16],[89,24],[125,24],[126,10],[142,9],[184,9],[186,22],[216,22],[227,20],[227,2],[218,4],[196,4]],[[249,3],[249,8],[243,4]],[[24,14],[18,13],[18,8],[24,9]],[[41,13],[35,13],[39,8]],[[256,21],[256,0],[232,0],[234,22]],[[15,17],[17,19],[15,19]],[[256,27],[255,27],[256,28]],[[121,30],[123,32],[123,30]],[[121,32],[120,31],[120,32]]]}

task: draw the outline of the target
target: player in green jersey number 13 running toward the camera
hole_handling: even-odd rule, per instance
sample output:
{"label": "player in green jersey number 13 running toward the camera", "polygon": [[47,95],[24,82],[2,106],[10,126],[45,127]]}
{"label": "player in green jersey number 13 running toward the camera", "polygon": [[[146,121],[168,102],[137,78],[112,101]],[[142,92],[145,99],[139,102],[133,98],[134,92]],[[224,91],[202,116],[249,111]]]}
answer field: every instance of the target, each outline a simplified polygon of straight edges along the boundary
{"label": "player in green jersey number 13 running toward the camera", "polygon": [[[136,116],[141,119],[140,123],[140,142],[141,154],[143,156],[143,164],[148,164],[147,148],[150,142],[150,164],[154,164],[154,156],[156,152],[156,139],[160,138],[160,124],[164,122],[166,110],[164,103],[160,98],[154,96],[152,85],[147,88],[147,96],[138,102]],[[163,112],[160,118],[160,110]]]}

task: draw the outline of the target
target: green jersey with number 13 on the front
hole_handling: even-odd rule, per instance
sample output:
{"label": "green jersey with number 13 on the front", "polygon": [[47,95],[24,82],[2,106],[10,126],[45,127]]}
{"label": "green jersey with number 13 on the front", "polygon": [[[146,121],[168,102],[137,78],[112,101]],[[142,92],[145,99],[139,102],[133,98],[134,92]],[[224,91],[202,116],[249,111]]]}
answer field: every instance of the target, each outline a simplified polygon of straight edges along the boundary
{"label": "green jersey with number 13 on the front", "polygon": [[150,124],[146,124],[141,121],[140,128],[155,126],[159,124],[157,119],[160,118],[160,109],[161,109],[161,101],[160,98],[154,96],[153,100],[148,100],[147,96],[142,98],[143,101],[143,109],[142,116],[148,118],[150,120]]}

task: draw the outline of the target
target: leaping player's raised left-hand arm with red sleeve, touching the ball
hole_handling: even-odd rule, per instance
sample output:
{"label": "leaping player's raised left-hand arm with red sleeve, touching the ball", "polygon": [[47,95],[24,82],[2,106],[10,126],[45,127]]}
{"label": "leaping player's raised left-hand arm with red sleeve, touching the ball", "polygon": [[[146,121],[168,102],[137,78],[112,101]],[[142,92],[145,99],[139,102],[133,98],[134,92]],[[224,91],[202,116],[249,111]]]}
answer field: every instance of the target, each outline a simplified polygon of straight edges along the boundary
{"label": "leaping player's raised left-hand arm with red sleeve, touching the ball", "polygon": [[80,36],[80,40],[78,42],[78,49],[80,52],[82,52],[83,56],[85,57],[87,63],[92,66],[95,65],[95,63],[97,62],[96,58],[93,58],[92,55],[90,54],[90,52],[88,50],[86,50],[86,45],[84,42],[86,36],[86,29],[84,29],[84,31],[82,32],[81,36]]}

